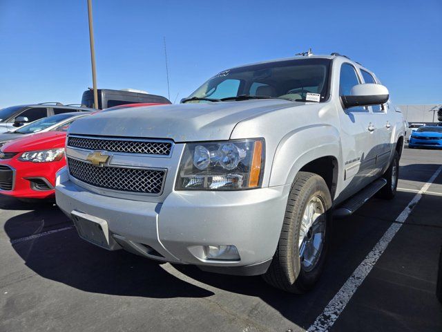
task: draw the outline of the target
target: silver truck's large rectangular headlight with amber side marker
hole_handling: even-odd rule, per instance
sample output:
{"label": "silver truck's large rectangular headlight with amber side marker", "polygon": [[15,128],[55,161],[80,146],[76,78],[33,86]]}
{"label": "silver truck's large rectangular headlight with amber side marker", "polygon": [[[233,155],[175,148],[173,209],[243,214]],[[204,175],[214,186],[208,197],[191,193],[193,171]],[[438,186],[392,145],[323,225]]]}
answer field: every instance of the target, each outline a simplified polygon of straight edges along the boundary
{"label": "silver truck's large rectangular headlight with amber side marker", "polygon": [[189,143],[184,148],[177,190],[242,190],[260,187],[264,140]]}

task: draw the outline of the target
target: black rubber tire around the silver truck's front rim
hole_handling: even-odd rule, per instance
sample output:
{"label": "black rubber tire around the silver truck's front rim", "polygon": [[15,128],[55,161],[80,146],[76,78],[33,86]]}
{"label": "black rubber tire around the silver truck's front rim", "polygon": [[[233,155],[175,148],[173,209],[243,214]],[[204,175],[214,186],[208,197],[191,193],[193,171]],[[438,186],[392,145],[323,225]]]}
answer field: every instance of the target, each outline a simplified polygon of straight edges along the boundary
{"label": "black rubber tire around the silver truck's front rim", "polygon": [[[301,262],[299,245],[295,243],[299,243],[302,216],[311,199],[323,203],[325,213],[320,214],[320,218],[325,232],[316,264],[311,270],[307,270]],[[327,256],[331,208],[332,198],[324,179],[314,173],[299,172],[291,186],[278,247],[267,273],[263,275],[268,284],[282,291],[298,294],[305,293],[316,284]]]}

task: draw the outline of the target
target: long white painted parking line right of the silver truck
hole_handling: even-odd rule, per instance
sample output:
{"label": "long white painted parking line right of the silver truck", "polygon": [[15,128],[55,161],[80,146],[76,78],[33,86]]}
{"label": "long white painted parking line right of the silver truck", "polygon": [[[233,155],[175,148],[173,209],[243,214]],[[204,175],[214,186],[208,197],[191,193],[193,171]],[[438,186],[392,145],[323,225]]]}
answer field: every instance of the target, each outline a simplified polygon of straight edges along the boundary
{"label": "long white painted parking line right of the silver truck", "polygon": [[383,254],[385,248],[387,248],[388,243],[392,241],[396,232],[401,228],[407,217],[412,212],[416,203],[422,197],[422,194],[427,192],[430,185],[433,183],[436,176],[438,176],[442,171],[442,165],[434,172],[430,180],[428,180],[425,185],[417,192],[417,194],[413,197],[413,199],[408,203],[407,207],[399,216],[396,218],[396,223],[393,223],[390,228],[388,228],[383,237],[376,243],[376,246],[369,252],[367,257],[359,264],[359,266],[354,270],[352,275],[347,279],[347,282],[340,288],[338,293],[334,295],[333,299],[327,304],[324,308],[323,313],[321,313],[313,324],[309,327],[307,331],[317,332],[317,331],[328,331],[338,319],[340,313],[343,312],[345,306],[352,298],[353,294],[356,292],[359,286],[363,283],[365,277],[367,277],[368,273],[372,270],[376,261],[378,261],[379,257]]}

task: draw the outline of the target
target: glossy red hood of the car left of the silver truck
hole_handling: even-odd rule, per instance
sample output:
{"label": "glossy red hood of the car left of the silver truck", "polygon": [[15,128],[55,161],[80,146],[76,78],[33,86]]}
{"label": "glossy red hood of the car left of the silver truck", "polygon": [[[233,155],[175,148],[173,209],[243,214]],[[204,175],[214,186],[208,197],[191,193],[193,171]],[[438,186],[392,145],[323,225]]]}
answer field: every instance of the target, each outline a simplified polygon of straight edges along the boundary
{"label": "glossy red hood of the car left of the silver truck", "polygon": [[34,133],[26,137],[13,140],[3,145],[3,152],[27,152],[64,147],[66,133],[64,131],[47,131]]}

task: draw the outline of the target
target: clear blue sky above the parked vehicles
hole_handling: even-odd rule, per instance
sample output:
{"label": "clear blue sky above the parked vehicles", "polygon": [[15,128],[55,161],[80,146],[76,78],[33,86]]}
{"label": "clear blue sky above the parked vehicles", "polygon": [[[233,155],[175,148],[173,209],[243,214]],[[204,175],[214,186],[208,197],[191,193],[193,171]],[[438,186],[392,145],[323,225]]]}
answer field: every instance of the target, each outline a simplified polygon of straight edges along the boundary
{"label": "clear blue sky above the parked vehicles", "polygon": [[[396,104],[442,102],[442,0],[93,0],[97,82],[189,95],[223,69],[311,47],[372,69]],[[92,86],[86,0],[0,0],[0,107]]]}

